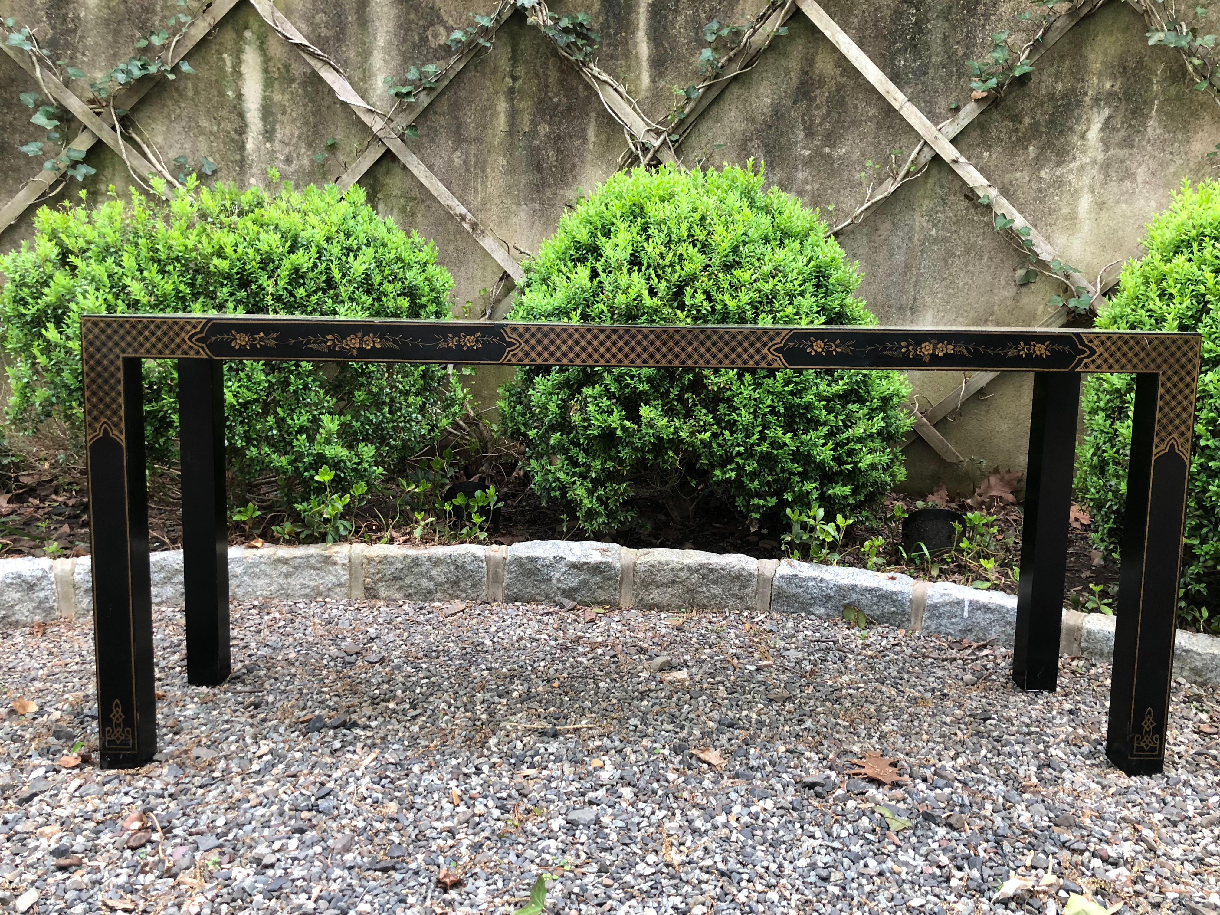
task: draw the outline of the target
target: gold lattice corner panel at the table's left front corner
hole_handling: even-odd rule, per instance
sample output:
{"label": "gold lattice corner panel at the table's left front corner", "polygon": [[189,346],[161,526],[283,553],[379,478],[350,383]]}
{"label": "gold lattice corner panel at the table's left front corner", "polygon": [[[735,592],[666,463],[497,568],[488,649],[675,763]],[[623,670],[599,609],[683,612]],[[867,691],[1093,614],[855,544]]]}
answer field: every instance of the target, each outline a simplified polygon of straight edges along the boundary
{"label": "gold lattice corner panel at the table's left front corner", "polygon": [[123,359],[206,356],[196,338],[206,318],[154,315],[87,316],[81,321],[84,357],[85,444],[102,434],[123,444]]}

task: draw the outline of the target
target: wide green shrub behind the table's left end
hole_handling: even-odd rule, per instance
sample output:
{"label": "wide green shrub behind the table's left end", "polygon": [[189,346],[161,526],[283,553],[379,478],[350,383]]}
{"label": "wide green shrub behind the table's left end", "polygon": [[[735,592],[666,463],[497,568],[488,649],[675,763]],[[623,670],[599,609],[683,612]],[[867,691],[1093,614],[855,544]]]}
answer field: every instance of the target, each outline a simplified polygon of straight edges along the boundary
{"label": "wide green shrub behind the table's left end", "polygon": [[[274,177],[274,176],[273,176]],[[33,245],[0,257],[0,346],[10,422],[82,428],[81,315],[224,312],[449,317],[436,249],[354,185],[278,193],[192,183],[172,200],[133,193],[38,211]],[[177,456],[177,372],[145,361],[149,459]],[[372,483],[434,442],[465,395],[442,366],[226,362],[226,438],[235,497],[256,479],[311,492],[328,465],[344,488]]]}

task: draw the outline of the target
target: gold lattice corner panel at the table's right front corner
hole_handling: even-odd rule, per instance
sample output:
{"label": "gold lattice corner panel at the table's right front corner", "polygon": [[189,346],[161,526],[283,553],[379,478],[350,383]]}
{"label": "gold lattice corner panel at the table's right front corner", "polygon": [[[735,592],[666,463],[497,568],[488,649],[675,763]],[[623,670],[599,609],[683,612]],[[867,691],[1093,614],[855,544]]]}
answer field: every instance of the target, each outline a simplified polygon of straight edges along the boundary
{"label": "gold lattice corner panel at the table's right front corner", "polygon": [[1096,355],[1082,360],[1080,370],[1104,372],[1159,372],[1157,434],[1153,459],[1175,449],[1191,454],[1194,432],[1194,395],[1198,389],[1199,338],[1143,334],[1089,334]]}

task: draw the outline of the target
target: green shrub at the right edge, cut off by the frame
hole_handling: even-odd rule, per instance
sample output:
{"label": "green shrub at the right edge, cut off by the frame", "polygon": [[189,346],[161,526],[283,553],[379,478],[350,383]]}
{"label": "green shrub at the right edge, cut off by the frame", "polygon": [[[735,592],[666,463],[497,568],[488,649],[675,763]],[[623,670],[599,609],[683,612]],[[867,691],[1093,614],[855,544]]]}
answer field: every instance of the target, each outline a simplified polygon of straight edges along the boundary
{"label": "green shrub at the right edge, cut off by the frame", "polygon": [[[1143,244],[1148,254],[1122,268],[1119,292],[1097,326],[1203,334],[1179,609],[1182,622],[1220,632],[1220,182],[1183,183],[1148,223]],[[1133,375],[1091,376],[1082,394],[1086,433],[1076,488],[1091,510],[1093,543],[1115,558],[1135,394]]]}

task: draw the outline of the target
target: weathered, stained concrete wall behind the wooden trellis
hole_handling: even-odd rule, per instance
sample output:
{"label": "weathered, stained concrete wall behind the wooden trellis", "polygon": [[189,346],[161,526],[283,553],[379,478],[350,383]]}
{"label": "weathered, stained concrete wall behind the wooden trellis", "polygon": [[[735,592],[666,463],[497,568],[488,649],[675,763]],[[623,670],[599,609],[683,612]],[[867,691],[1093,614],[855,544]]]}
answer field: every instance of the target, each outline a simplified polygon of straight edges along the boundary
{"label": "weathered, stained concrete wall behind the wooden trellis", "polygon": [[[644,111],[660,117],[673,87],[697,79],[702,28],[711,18],[739,23],[759,0],[598,0],[555,2],[587,10],[601,34],[598,60],[619,76]],[[827,11],[933,121],[969,99],[965,61],[991,49],[993,32],[1014,28],[1024,0],[825,0]],[[327,4],[287,0],[284,13],[344,66],[373,105],[392,102],[383,85],[411,63],[448,55],[445,35],[470,23],[470,0]],[[492,2],[482,6],[490,7]],[[10,0],[5,15],[37,28],[54,56],[96,77],[129,54],[137,38],[178,11],[172,0]],[[486,10],[479,9],[483,12]],[[1028,27],[1025,27],[1028,30]],[[959,137],[963,152],[1086,274],[1137,253],[1144,222],[1183,178],[1210,173],[1205,152],[1220,111],[1190,89],[1180,59],[1148,48],[1138,13],[1116,0],[1077,26]],[[246,4],[238,5],[189,55],[198,74],[154,89],[137,118],[165,157],[206,155],[216,178],[266,183],[278,168],[296,184],[340,174],[368,131],[312,70]],[[0,56],[0,198],[38,171],[16,146],[38,135],[17,95],[35,88]],[[577,188],[597,185],[616,166],[621,131],[595,94],[518,13],[418,118],[410,145],[516,254],[554,228]],[[322,162],[316,152],[327,149]],[[828,220],[863,199],[865,161],[917,137],[802,15],[754,68],[732,83],[692,132],[687,163],[766,162],[769,178]],[[87,160],[93,195],[127,185],[117,156],[96,144]],[[883,176],[882,176],[883,177]],[[406,228],[434,238],[456,281],[455,307],[492,288],[499,266],[390,155],[364,177],[370,201]],[[78,185],[60,194],[74,194]],[[0,235],[0,249],[32,237],[33,210]],[[860,292],[882,323],[1032,325],[1060,292],[1046,278],[1017,287],[1024,256],[992,231],[989,211],[939,161],[842,237],[859,261]],[[504,372],[483,371],[478,395],[490,401]],[[961,384],[950,373],[915,372],[927,405]],[[1028,378],[1005,376],[939,425],[972,460],[941,461],[922,442],[908,449],[913,490],[938,482],[966,487],[991,466],[1022,467]]]}

